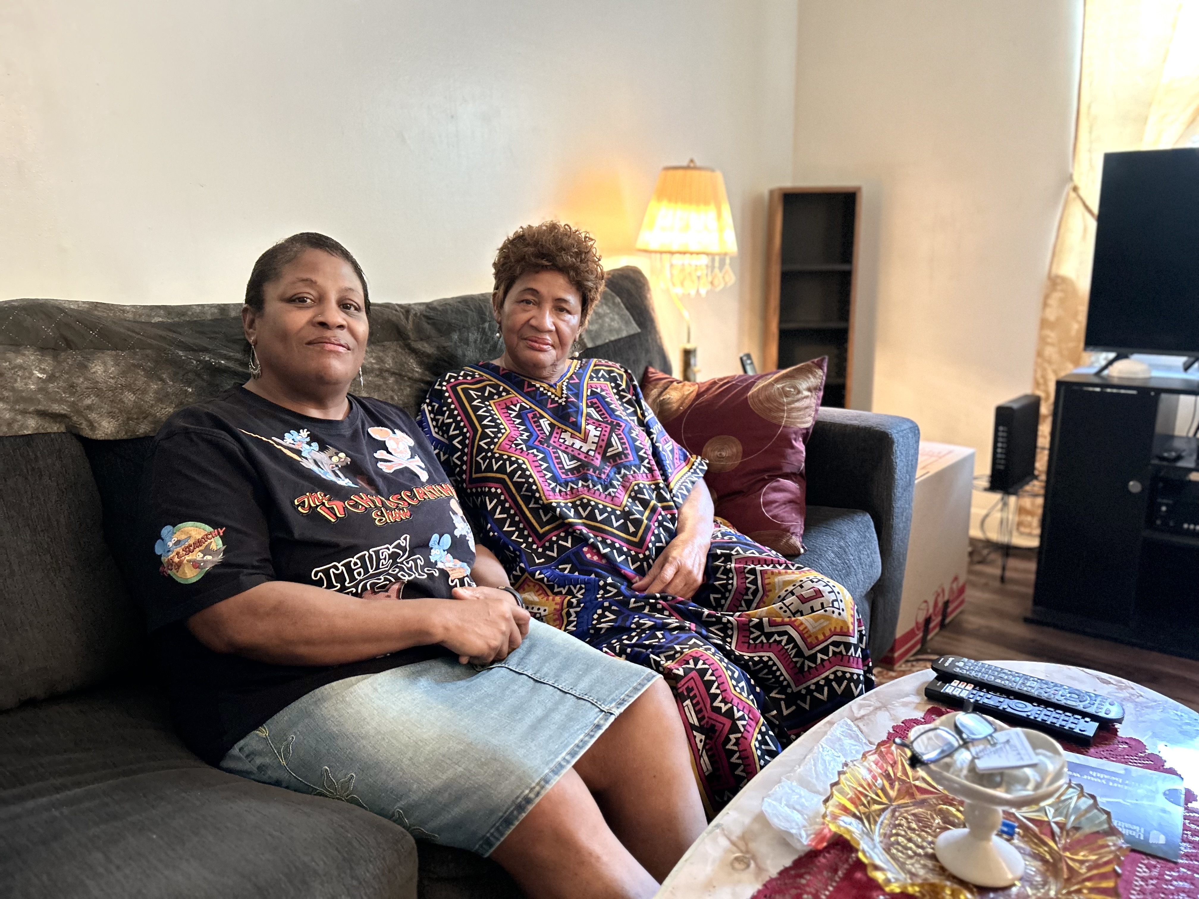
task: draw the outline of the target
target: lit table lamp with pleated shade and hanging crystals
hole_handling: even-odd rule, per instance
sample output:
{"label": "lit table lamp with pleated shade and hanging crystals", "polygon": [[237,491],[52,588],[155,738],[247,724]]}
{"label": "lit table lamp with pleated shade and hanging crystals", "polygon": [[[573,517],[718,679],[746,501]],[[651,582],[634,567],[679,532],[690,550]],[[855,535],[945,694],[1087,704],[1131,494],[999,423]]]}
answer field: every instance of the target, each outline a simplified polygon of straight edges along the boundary
{"label": "lit table lamp with pleated shade and hanging crystals", "polygon": [[721,173],[697,165],[694,159],[663,168],[645,210],[637,248],[652,254],[655,279],[670,294],[687,322],[682,376],[694,381],[699,350],[691,342],[691,314],[682,297],[704,296],[735,280],[729,257],[737,254],[737,237]]}

